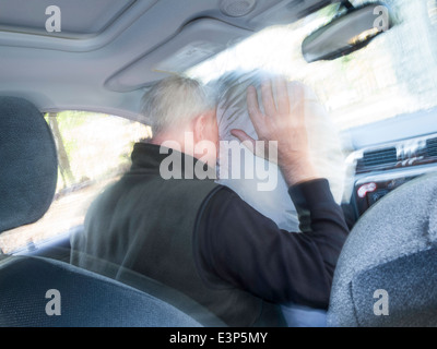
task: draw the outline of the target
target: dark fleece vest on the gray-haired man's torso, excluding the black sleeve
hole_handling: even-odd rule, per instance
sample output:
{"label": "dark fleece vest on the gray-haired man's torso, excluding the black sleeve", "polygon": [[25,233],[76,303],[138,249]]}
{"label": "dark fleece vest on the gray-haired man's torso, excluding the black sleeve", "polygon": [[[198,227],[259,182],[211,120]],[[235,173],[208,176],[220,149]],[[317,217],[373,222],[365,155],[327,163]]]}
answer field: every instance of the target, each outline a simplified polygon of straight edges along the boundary
{"label": "dark fleece vest on the gray-haired man's torso, excluding the black sleeve", "polygon": [[[182,157],[184,173],[187,158],[172,152]],[[222,186],[209,179],[163,179],[160,165],[167,157],[156,145],[135,144],[131,170],[93,203],[84,234],[72,239],[71,262],[116,279],[121,269],[146,276],[229,326],[283,325],[277,306],[229,284],[211,286],[202,279],[193,232],[199,212]],[[165,300],[197,320],[205,318],[194,314],[199,310],[181,304],[184,298]]]}

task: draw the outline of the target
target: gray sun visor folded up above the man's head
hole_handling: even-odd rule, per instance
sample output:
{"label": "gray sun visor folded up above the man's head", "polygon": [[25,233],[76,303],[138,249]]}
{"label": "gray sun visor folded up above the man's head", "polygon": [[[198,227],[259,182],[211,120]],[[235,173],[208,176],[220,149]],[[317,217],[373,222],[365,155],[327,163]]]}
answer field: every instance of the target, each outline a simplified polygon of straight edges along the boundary
{"label": "gray sun visor folded up above the man's head", "polygon": [[184,72],[251,34],[216,20],[193,21],[167,43],[111,76],[105,85],[116,92],[142,88],[168,74]]}

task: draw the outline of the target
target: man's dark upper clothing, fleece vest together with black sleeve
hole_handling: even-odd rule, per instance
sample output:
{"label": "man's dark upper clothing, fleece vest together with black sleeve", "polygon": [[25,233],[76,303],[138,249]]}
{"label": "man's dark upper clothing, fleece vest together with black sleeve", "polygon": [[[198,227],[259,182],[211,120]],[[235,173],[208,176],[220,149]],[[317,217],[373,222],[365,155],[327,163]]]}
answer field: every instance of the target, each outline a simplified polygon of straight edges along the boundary
{"label": "man's dark upper clothing, fleece vest together with black sleeve", "polygon": [[284,325],[275,303],[327,308],[347,228],[326,180],[291,189],[306,231],[296,234],[212,180],[164,180],[167,156],[156,145],[135,145],[131,170],[96,200],[84,236],[72,241],[73,264],[113,269],[115,278],[133,270],[231,326]]}

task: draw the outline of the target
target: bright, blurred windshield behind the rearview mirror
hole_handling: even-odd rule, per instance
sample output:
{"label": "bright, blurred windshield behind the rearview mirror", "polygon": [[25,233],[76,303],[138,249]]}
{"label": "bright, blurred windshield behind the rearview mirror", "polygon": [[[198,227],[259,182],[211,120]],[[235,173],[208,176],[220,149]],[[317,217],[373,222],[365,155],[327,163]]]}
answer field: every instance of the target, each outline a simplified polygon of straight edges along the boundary
{"label": "bright, blurred windshield behind the rearview mirror", "polygon": [[339,4],[332,4],[292,25],[269,27],[187,73],[203,82],[233,70],[285,74],[316,92],[340,130],[432,109],[437,105],[437,1],[386,2],[397,25],[343,58],[307,63],[302,55],[305,37],[338,13]]}

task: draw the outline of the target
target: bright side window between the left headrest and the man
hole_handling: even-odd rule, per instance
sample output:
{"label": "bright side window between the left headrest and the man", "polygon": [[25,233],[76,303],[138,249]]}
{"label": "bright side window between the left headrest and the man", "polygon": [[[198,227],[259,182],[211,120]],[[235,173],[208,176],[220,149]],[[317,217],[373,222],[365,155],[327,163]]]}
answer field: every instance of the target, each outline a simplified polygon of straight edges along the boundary
{"label": "bright side window between the left headrest and the man", "polygon": [[58,149],[54,202],[37,222],[0,236],[3,253],[68,233],[83,225],[93,200],[130,167],[133,144],[152,136],[144,124],[95,112],[47,113]]}

